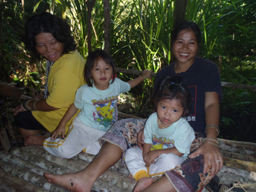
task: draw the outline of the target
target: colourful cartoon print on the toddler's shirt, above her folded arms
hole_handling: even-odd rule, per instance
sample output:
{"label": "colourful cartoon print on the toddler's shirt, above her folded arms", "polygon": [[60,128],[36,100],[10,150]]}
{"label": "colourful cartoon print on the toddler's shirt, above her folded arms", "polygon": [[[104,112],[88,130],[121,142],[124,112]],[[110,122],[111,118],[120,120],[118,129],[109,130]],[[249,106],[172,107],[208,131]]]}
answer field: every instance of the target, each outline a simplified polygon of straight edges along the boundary
{"label": "colourful cartoon print on the toddler's shirt, above her folded arms", "polygon": [[169,138],[167,139],[165,137],[157,137],[155,134],[152,141],[153,144],[151,146],[151,151],[175,147],[175,141],[170,140]]}

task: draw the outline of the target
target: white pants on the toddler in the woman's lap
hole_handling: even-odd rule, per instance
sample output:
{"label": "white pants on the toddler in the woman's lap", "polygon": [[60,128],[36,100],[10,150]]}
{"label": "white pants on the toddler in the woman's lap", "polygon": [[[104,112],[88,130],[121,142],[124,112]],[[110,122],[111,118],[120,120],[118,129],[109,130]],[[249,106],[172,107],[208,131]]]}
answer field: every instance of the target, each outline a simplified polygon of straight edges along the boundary
{"label": "white pants on the toddler in the woman's lap", "polygon": [[125,154],[125,164],[132,177],[135,177],[141,170],[145,170],[152,178],[161,177],[166,170],[171,170],[185,161],[185,157],[178,157],[176,154],[161,154],[155,161],[155,164],[150,165],[148,171],[148,167],[145,167],[142,150],[139,147],[130,148]]}

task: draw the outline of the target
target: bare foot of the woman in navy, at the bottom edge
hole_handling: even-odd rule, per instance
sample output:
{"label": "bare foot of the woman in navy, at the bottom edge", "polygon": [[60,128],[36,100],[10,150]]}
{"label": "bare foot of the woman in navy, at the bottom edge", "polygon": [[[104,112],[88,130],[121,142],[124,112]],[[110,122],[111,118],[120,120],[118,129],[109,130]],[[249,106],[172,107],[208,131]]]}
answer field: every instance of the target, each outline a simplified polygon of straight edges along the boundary
{"label": "bare foot of the woman in navy, at the bottom edge", "polygon": [[88,184],[88,180],[82,180],[83,177],[78,173],[62,175],[44,174],[44,176],[49,183],[65,187],[67,190],[73,192],[90,192],[92,185]]}

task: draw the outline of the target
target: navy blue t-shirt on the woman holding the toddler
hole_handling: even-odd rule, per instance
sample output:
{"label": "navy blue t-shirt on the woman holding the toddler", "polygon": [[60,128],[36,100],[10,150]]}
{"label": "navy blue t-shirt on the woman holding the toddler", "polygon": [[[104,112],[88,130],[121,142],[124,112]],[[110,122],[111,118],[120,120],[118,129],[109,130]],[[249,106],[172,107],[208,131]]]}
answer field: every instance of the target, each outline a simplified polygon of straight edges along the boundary
{"label": "navy blue t-shirt on the woman holding the toddler", "polygon": [[205,92],[214,91],[220,95],[220,101],[222,100],[221,78],[217,65],[208,59],[196,57],[187,71],[176,74],[175,62],[171,63],[156,74],[153,97],[158,91],[161,80],[166,76],[181,77],[182,83],[188,86],[192,94],[192,105],[187,120],[195,132],[203,133]]}

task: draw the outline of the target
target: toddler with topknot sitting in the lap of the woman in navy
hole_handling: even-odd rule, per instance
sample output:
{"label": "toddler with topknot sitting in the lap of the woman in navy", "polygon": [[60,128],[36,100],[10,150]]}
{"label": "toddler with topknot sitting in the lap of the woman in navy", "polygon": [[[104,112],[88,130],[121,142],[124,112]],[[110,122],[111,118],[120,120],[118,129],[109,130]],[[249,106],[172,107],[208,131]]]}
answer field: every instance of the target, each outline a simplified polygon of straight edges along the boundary
{"label": "toddler with topknot sitting in the lap of the woman in navy", "polygon": [[[145,188],[185,161],[194,141],[194,130],[184,118],[191,108],[191,92],[181,78],[161,81],[155,104],[157,112],[145,124],[143,151],[134,147],[125,154],[128,170]],[[140,191],[136,187],[134,191]]]}

